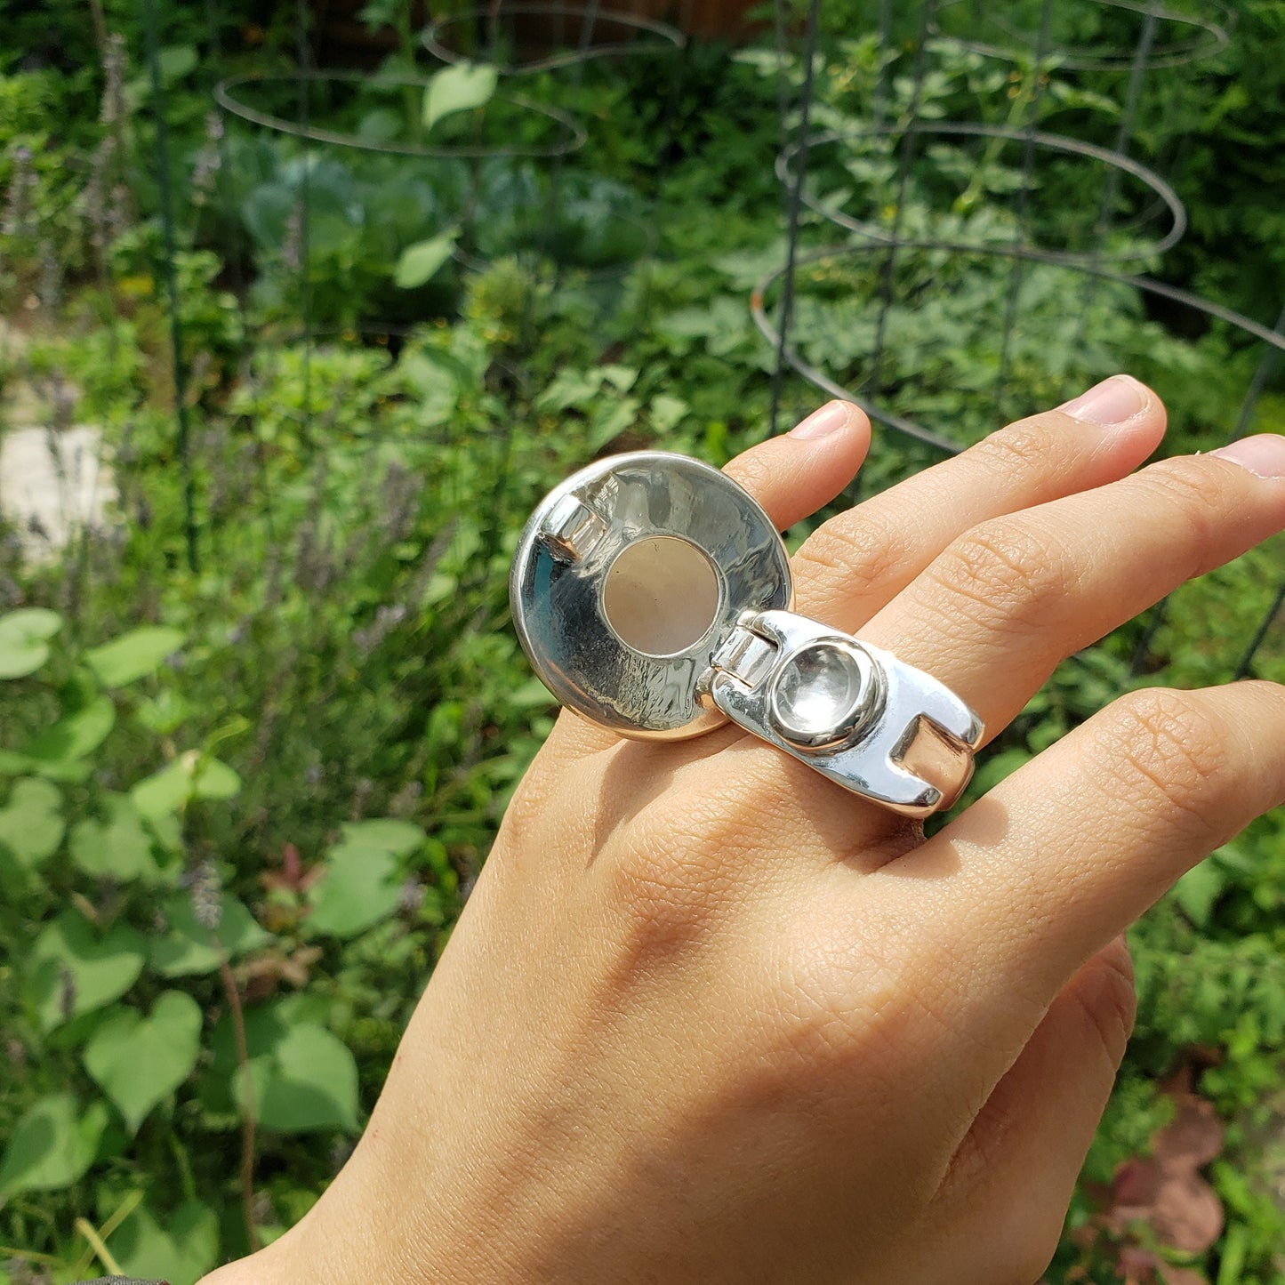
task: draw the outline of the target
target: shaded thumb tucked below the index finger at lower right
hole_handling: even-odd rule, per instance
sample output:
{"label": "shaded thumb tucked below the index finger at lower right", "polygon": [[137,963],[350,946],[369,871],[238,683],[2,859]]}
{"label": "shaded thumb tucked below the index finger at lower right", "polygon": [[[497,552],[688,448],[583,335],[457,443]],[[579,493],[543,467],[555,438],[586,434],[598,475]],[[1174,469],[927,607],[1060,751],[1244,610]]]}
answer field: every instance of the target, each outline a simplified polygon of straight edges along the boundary
{"label": "shaded thumb tucked below the index finger at lower right", "polygon": [[960,1280],[973,1277],[973,1255],[987,1280],[1001,1246],[1005,1262],[1029,1259],[1025,1280],[1049,1264],[1136,1009],[1128,946],[1117,937],[1054,1000],[991,1092],[934,1201],[953,1228]]}

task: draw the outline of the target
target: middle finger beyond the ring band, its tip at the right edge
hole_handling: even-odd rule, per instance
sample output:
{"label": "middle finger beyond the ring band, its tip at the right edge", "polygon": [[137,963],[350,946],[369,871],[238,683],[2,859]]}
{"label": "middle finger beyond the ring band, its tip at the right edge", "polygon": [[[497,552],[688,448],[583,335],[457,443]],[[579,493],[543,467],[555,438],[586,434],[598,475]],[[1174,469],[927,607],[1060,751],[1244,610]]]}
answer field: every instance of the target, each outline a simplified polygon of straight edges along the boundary
{"label": "middle finger beyond the ring band, its tip at the right edge", "polygon": [[[1285,473],[1285,438],[1279,442]],[[1263,447],[1262,438],[1236,443]],[[1073,651],[1285,526],[1285,478],[1189,455],[956,540],[862,637],[959,693],[995,736]]]}

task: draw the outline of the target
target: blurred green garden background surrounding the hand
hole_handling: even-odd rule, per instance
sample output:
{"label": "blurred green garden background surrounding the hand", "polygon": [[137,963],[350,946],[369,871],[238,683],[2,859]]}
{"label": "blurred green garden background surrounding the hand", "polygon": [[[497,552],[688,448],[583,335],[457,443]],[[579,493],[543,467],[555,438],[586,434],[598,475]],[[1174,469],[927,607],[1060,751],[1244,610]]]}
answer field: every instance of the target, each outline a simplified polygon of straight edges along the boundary
{"label": "blurred green garden background surrounding the hand", "polygon": [[[190,1285],[343,1163],[551,726],[573,468],[842,394],[851,502],[1122,369],[1168,452],[1285,430],[1285,0],[621,5],[0,0],[0,1285]],[[1285,680],[1282,553],[970,797]],[[1276,813],[1133,930],[1049,1285],[1285,1282],[1282,901]]]}

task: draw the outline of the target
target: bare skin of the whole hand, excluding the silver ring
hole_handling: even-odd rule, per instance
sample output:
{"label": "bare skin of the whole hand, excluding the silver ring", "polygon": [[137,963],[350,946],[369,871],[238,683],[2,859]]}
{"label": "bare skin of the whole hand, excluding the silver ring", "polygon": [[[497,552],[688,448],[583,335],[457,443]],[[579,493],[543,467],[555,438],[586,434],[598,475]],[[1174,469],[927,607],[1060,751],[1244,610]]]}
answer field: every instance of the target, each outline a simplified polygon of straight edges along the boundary
{"label": "bare skin of the whole hand, excluding the silver ring", "polygon": [[[828,522],[795,609],[993,736],[1285,527],[1285,479],[1232,459],[1135,472],[1164,411],[1113,387],[1121,423],[1037,415]],[[783,529],[865,455],[865,416],[831,416],[729,465]],[[928,842],[739,729],[564,713],[352,1159],[206,1285],[1031,1285],[1131,1031],[1119,934],[1282,801],[1268,682],[1123,696]]]}

